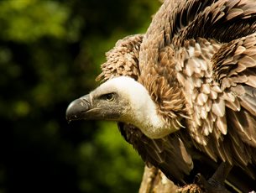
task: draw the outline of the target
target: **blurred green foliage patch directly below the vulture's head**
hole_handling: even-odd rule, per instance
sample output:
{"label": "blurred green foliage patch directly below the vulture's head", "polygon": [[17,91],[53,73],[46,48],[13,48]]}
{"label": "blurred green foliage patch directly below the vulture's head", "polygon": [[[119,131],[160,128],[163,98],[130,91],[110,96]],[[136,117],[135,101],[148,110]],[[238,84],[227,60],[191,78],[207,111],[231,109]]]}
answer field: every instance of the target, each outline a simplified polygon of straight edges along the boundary
{"label": "blurred green foliage patch directly below the vulture's head", "polygon": [[[84,192],[136,192],[144,165],[131,145],[118,132],[116,123],[98,125],[93,143],[81,143],[81,190]],[[100,165],[100,170],[85,165]],[[88,181],[95,175],[97,184]]]}

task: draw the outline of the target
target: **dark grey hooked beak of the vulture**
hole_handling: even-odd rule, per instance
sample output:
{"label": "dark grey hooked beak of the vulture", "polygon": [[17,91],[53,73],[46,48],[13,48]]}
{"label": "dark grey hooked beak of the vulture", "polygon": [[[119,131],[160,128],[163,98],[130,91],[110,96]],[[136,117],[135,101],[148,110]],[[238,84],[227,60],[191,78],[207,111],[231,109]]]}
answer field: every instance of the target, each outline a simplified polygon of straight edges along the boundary
{"label": "dark grey hooked beak of the vulture", "polygon": [[84,119],[86,112],[91,109],[90,96],[78,98],[67,107],[65,118],[70,123],[73,120]]}

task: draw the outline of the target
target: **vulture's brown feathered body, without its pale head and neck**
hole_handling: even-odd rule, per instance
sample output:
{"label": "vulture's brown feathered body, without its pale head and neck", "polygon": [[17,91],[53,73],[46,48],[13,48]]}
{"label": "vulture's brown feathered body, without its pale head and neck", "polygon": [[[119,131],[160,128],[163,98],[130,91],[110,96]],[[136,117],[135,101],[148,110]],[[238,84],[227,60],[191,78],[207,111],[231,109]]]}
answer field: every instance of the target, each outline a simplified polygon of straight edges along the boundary
{"label": "vulture's brown feathered body, without its pale head and neck", "polygon": [[192,159],[212,159],[255,179],[255,31],[253,0],[165,0],[146,34],[121,39],[107,53],[97,80],[132,77],[177,129],[149,138],[118,123],[146,164],[184,181]]}

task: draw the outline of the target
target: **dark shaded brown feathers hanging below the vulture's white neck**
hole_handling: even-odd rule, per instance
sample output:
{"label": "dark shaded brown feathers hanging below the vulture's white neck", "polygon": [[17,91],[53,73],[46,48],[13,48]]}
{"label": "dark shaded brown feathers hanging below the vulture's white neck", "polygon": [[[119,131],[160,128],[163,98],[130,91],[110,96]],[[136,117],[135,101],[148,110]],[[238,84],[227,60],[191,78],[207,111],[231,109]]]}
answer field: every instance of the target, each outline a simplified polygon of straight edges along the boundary
{"label": "dark shaded brown feathers hanging below the vulture's white neck", "polygon": [[183,179],[193,169],[193,162],[180,138],[169,135],[165,138],[150,139],[138,128],[126,123],[118,123],[118,128],[146,164],[153,164],[170,179],[185,183]]}

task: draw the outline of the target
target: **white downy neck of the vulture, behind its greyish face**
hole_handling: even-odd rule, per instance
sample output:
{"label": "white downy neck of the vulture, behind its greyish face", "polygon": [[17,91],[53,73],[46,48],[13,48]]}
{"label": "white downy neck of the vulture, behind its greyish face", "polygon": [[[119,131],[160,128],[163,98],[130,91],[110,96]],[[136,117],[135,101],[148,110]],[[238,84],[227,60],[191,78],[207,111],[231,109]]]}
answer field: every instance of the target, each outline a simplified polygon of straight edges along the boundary
{"label": "white downy neck of the vulture, behind its greyish face", "polygon": [[133,124],[149,138],[163,138],[177,131],[171,122],[165,121],[164,117],[159,115],[156,104],[149,96],[149,91],[138,81],[128,77],[125,79],[128,82],[123,89],[128,93],[130,104],[124,122]]}

